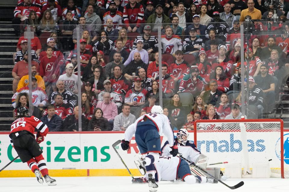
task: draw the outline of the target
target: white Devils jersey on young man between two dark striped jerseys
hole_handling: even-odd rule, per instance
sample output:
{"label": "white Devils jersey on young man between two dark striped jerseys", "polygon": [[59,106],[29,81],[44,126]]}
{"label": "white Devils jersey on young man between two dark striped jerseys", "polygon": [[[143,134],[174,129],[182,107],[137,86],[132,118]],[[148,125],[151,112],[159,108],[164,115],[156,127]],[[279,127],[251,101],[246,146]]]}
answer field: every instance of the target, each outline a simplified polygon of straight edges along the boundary
{"label": "white Devils jersey on young man between two dark striped jerseys", "polygon": [[163,46],[163,53],[173,54],[176,50],[183,49],[183,43],[178,35],[172,35],[171,38],[167,38],[166,35],[161,36],[161,43]]}

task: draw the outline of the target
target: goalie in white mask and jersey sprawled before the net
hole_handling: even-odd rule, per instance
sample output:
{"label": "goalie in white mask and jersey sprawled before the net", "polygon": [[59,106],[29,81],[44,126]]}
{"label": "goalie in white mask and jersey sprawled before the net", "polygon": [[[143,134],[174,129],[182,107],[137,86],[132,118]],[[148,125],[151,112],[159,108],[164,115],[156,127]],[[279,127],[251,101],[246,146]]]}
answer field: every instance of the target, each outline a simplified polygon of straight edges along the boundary
{"label": "goalie in white mask and jersey sprawled before the net", "polygon": [[[175,139],[175,143],[178,144],[179,153],[186,159],[191,162],[194,162],[197,166],[206,170],[211,175],[219,178],[220,180],[228,179],[228,176],[223,175],[220,168],[207,168],[208,157],[202,154],[192,141],[188,140],[189,133],[186,129],[180,129],[177,133],[177,137]],[[168,141],[166,141],[161,149],[161,155],[167,156],[170,155],[170,147]],[[193,167],[191,167],[191,172],[194,175],[202,176],[201,172]]]}

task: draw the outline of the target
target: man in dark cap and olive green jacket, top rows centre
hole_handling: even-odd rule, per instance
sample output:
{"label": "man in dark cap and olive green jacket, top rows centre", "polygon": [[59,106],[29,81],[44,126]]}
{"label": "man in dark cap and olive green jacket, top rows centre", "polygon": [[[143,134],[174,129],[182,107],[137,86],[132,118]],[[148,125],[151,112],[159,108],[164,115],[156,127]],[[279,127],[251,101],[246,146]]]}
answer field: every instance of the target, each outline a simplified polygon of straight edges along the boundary
{"label": "man in dark cap and olive green jacket, top rows centre", "polygon": [[163,26],[162,23],[170,22],[171,21],[169,17],[163,13],[163,6],[161,4],[157,4],[156,12],[154,14],[151,14],[147,20],[147,24],[151,26],[152,31],[157,31],[158,25],[156,24],[161,24],[161,29],[164,29],[165,26]]}

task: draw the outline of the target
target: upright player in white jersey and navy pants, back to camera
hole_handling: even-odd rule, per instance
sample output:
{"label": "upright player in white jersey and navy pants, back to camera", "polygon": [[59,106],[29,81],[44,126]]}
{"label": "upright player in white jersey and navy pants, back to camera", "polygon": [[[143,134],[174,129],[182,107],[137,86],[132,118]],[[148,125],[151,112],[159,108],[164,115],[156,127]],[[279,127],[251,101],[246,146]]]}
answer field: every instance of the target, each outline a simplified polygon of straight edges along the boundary
{"label": "upright player in white jersey and navy pants, back to camera", "polygon": [[[135,134],[135,142],[144,158],[135,161],[138,170],[142,175],[148,173],[149,187],[157,188],[154,182],[154,166],[153,163],[159,161],[160,157],[160,135],[164,134],[168,138],[169,147],[172,149],[170,154],[176,156],[178,147],[174,143],[174,134],[167,116],[163,115],[162,107],[154,105],[151,113],[140,116],[135,123],[129,125],[124,133],[121,147],[123,150],[129,149],[129,140]],[[151,189],[150,189],[151,190]]]}

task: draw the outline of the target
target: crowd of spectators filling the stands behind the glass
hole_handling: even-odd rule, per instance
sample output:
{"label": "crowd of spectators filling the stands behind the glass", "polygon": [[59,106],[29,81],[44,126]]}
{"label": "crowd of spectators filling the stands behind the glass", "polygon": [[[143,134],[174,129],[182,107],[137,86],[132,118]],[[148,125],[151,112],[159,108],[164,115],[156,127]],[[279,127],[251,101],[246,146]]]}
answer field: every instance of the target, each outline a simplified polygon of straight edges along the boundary
{"label": "crowd of spectators filling the stands behind the glass", "polygon": [[[12,71],[13,107],[29,107],[23,33],[30,25],[33,115],[49,131],[78,131],[79,118],[82,131],[125,131],[159,104],[160,89],[173,130],[193,130],[197,119],[240,119],[241,103],[263,118],[272,113],[289,70],[289,26],[284,22],[289,2],[282,3],[280,20],[273,22],[273,8],[261,0],[19,0],[13,19],[20,36]],[[241,50],[244,21],[247,41]],[[38,37],[44,33],[50,37],[41,44]],[[249,73],[245,93],[242,68]],[[191,103],[183,106],[181,98],[188,94]],[[241,94],[249,95],[246,101]]]}

